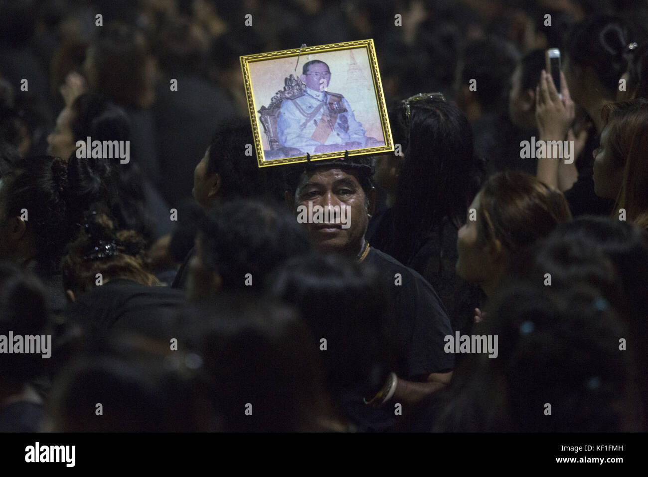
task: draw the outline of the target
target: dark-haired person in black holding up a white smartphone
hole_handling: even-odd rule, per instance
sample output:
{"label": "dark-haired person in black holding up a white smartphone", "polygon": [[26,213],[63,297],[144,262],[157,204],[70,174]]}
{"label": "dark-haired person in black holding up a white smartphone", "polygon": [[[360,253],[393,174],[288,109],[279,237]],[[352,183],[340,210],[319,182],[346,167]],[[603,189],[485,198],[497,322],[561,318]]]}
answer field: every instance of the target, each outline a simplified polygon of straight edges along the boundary
{"label": "dark-haired person in black holding up a white smartphone", "polygon": [[[561,84],[553,82],[549,71],[540,77],[536,119],[540,140],[573,141],[569,144],[573,144],[575,161],[567,164],[564,160],[541,159],[537,178],[564,191],[573,215],[608,214],[612,202],[594,193],[590,151],[597,147],[594,136],[603,128],[601,110],[615,101],[619,78],[627,69],[625,51],[632,38],[631,27],[615,16],[594,15],[576,25],[568,38],[561,52]],[[594,127],[589,132],[572,126],[576,106],[581,106],[592,120]],[[591,137],[586,143],[588,135]],[[577,160],[581,153],[582,159]]]}

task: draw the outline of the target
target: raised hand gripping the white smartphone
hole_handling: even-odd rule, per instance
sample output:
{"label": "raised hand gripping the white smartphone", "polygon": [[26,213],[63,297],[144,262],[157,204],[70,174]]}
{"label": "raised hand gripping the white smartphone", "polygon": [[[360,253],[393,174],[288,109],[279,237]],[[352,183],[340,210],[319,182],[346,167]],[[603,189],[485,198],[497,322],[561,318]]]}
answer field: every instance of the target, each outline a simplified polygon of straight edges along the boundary
{"label": "raised hand gripping the white smartphone", "polygon": [[553,79],[544,69],[535,91],[535,119],[540,139],[562,141],[572,125],[575,106],[561,71],[562,99],[558,96]]}

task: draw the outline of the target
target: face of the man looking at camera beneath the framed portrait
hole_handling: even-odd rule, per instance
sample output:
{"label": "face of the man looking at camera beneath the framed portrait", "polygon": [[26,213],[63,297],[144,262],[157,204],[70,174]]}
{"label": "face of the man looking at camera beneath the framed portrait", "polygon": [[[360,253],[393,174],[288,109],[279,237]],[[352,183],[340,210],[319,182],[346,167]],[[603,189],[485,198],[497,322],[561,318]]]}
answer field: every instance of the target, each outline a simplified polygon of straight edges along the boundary
{"label": "face of the man looking at camera beneath the framed portrait", "polygon": [[[373,194],[372,194],[373,196]],[[324,169],[310,175],[302,175],[295,192],[295,214],[299,206],[308,208],[321,206],[330,210],[346,207],[346,221],[349,228],[342,228],[338,215],[328,223],[304,223],[310,239],[317,247],[328,252],[358,254],[369,225],[369,211],[373,208],[373,197],[367,200],[358,178],[354,173],[342,169]],[[336,209],[335,206],[338,206]],[[338,218],[338,220],[335,220]]]}

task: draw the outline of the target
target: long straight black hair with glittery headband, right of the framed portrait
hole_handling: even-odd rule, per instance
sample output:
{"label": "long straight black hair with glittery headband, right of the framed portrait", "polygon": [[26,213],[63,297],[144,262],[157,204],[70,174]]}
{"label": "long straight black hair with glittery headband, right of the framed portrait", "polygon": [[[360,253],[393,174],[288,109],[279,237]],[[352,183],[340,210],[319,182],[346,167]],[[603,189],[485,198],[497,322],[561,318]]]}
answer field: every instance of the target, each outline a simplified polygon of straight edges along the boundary
{"label": "long straight black hair with glittery headband, right of the framed portrait", "polygon": [[408,264],[444,219],[461,225],[474,156],[470,123],[441,98],[410,103],[409,119],[403,104],[397,118],[407,145],[386,251]]}

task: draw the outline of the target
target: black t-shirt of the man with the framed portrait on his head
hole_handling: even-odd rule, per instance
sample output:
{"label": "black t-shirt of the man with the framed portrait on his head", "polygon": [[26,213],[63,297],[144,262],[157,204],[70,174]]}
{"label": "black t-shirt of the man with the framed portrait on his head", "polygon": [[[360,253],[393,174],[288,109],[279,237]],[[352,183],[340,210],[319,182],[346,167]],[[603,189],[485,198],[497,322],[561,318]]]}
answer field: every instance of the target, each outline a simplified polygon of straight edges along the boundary
{"label": "black t-shirt of the man with the framed portrait on his head", "polygon": [[373,247],[363,263],[378,269],[391,290],[386,328],[397,354],[397,376],[425,380],[430,373],[451,371],[454,355],[443,348],[452,326],[434,288],[419,273]]}

